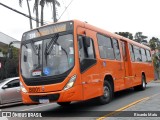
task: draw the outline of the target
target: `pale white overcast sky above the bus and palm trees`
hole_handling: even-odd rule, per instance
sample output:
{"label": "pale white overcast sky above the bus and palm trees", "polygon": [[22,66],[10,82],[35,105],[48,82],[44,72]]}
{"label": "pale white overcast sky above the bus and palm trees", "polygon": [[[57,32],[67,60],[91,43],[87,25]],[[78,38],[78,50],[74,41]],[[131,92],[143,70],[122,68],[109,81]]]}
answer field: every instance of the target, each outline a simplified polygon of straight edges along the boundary
{"label": "pale white overcast sky above the bus and palm trees", "polygon": [[[71,0],[58,0],[60,16]],[[28,14],[26,0],[0,0],[16,10]],[[33,12],[34,0],[30,1]],[[39,6],[40,8],[40,6]],[[52,23],[52,7],[46,5],[44,20]],[[40,13],[40,11],[39,11]],[[160,39],[160,0],[73,0],[59,21],[78,19],[110,32],[143,32],[143,35]],[[0,6],[0,32],[17,40],[30,30],[29,19]],[[32,13],[35,17],[35,13]],[[33,22],[34,28],[36,27]]]}

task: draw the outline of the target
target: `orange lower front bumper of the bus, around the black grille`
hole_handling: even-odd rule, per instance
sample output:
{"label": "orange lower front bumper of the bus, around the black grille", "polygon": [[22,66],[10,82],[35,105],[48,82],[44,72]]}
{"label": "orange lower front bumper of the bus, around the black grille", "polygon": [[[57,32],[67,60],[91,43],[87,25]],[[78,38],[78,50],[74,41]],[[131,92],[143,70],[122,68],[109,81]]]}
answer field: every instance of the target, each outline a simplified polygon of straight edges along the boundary
{"label": "orange lower front bumper of the bus, around the black grille", "polygon": [[68,90],[56,92],[21,93],[24,104],[36,104],[39,103],[39,99],[48,99],[49,102],[68,102],[83,100],[82,85],[77,85]]}

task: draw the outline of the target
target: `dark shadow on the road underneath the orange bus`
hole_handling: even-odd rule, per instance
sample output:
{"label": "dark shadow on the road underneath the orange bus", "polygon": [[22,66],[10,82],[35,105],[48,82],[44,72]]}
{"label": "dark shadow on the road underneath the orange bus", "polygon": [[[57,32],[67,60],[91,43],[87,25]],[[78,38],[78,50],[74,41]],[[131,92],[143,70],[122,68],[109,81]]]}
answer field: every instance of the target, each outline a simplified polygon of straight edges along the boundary
{"label": "dark shadow on the road underneath the orange bus", "polygon": [[[147,87],[146,90],[150,89],[151,87]],[[135,91],[133,88],[126,89],[123,91],[116,92],[114,95],[113,101],[118,99],[122,99],[125,97],[129,97],[130,95],[137,94],[142,91]],[[53,116],[53,117],[96,117],[102,116],[106,112],[109,111],[99,111],[101,105],[99,105],[94,99],[81,101],[81,102],[74,102],[69,106],[56,106],[53,109],[48,109],[47,111],[41,111],[42,114],[45,116]],[[107,107],[107,106],[106,106]],[[97,111],[96,111],[97,110]]]}

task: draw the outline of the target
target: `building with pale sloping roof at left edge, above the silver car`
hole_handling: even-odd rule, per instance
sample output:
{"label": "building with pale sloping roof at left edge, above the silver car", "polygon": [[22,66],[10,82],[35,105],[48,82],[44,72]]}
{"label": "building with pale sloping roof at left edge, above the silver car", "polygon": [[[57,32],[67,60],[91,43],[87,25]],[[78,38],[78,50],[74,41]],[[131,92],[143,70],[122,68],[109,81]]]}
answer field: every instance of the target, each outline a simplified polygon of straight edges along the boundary
{"label": "building with pale sloping roof at left edge, above the silver car", "polygon": [[[2,32],[0,32],[0,80],[7,78],[7,77],[14,77],[17,76],[18,72],[18,58],[8,59],[6,57],[8,51],[8,45],[12,41],[18,41]],[[13,45],[16,48],[20,48],[20,45],[15,44]],[[18,49],[17,49],[18,51]],[[18,52],[16,52],[18,54]]]}

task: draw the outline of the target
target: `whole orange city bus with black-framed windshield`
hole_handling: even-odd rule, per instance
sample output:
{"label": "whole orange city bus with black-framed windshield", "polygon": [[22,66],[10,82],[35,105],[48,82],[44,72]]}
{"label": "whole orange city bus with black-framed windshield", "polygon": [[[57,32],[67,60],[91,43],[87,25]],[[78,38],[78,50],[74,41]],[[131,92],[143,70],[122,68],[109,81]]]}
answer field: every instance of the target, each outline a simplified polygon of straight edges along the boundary
{"label": "whole orange city bus with black-framed windshield", "polygon": [[19,70],[25,104],[106,104],[114,92],[144,90],[154,78],[149,47],[78,20],[25,32]]}

